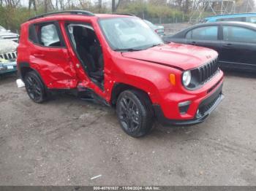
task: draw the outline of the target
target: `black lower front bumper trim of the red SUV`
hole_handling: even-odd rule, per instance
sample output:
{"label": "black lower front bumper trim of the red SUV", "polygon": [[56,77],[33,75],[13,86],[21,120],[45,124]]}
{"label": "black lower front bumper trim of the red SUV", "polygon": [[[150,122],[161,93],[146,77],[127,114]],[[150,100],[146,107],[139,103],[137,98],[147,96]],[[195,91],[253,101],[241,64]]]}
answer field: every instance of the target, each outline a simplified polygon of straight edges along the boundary
{"label": "black lower front bumper trim of the red SUV", "polygon": [[203,122],[206,118],[217,108],[219,103],[223,100],[224,95],[222,94],[222,85],[219,85],[217,90],[214,91],[208,98],[201,101],[198,106],[198,114],[195,115],[195,118],[192,120],[170,120],[165,117],[165,114],[162,112],[161,106],[154,104],[154,113],[157,117],[157,120],[162,125],[195,125],[197,123]]}

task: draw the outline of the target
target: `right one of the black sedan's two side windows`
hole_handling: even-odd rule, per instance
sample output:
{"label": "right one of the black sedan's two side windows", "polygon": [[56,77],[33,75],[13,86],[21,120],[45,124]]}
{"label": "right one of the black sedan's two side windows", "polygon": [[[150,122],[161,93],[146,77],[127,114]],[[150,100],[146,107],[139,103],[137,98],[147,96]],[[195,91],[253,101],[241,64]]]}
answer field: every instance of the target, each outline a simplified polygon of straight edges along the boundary
{"label": "right one of the black sedan's two side windows", "polygon": [[223,26],[223,39],[230,42],[256,42],[256,31],[238,26]]}

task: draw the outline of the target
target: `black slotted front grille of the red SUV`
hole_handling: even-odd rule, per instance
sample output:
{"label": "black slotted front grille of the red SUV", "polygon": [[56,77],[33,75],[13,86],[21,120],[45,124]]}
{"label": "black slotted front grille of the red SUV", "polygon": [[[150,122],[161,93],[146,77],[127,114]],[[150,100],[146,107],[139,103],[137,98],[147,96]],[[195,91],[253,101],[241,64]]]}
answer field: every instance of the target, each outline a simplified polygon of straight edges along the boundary
{"label": "black slotted front grille of the red SUV", "polygon": [[218,58],[200,66],[199,68],[195,69],[198,75],[198,82],[200,85],[204,84],[214,76],[214,74],[219,69]]}

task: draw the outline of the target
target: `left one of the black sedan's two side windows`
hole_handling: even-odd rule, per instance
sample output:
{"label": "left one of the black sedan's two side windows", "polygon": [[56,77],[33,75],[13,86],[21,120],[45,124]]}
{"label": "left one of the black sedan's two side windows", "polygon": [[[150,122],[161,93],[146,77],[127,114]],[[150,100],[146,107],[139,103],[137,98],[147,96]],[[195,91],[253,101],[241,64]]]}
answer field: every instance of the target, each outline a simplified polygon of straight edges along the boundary
{"label": "left one of the black sedan's two side windows", "polygon": [[195,28],[189,31],[186,36],[192,39],[200,40],[217,40],[218,39],[218,26],[204,26],[200,28]]}

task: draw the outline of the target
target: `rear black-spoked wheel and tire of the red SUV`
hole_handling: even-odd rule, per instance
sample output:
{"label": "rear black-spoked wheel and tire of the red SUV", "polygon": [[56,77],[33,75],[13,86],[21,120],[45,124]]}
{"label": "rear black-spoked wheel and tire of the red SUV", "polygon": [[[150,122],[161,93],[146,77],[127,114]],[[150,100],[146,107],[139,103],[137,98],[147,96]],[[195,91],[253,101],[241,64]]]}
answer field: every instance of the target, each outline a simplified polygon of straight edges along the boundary
{"label": "rear black-spoked wheel and tire of the red SUV", "polygon": [[39,104],[46,100],[45,85],[35,71],[29,71],[24,77],[26,92],[29,98]]}

